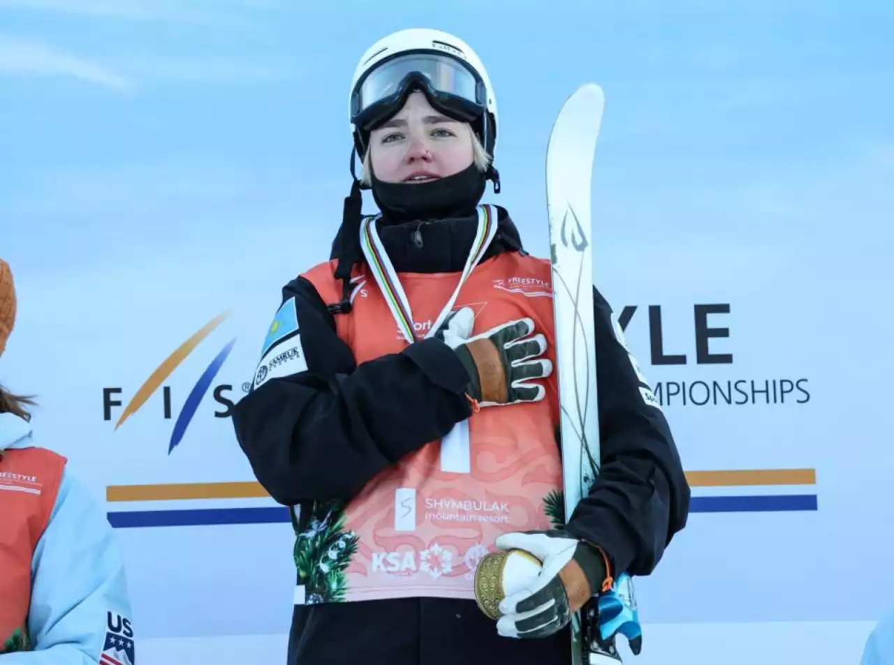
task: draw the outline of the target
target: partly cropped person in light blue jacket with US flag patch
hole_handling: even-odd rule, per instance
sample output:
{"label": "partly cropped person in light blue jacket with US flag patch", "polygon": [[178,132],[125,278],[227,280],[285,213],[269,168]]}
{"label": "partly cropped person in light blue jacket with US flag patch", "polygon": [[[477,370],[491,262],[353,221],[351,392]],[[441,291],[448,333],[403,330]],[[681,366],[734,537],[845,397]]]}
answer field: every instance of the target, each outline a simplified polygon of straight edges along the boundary
{"label": "partly cropped person in light blue jacket with US flag patch", "polygon": [[[16,304],[0,259],[0,355]],[[40,446],[33,404],[0,387],[0,665],[133,665],[114,532],[66,459]]]}

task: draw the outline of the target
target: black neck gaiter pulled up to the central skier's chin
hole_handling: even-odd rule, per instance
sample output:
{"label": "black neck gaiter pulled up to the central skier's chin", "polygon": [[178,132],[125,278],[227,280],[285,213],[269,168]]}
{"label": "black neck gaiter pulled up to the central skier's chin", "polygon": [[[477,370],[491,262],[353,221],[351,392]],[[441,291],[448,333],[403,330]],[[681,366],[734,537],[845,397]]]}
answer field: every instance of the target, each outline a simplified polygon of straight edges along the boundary
{"label": "black neck gaiter pulled up to the central skier's chin", "polygon": [[485,195],[485,173],[472,163],[446,178],[411,184],[383,182],[372,176],[373,198],[384,224],[468,217]]}

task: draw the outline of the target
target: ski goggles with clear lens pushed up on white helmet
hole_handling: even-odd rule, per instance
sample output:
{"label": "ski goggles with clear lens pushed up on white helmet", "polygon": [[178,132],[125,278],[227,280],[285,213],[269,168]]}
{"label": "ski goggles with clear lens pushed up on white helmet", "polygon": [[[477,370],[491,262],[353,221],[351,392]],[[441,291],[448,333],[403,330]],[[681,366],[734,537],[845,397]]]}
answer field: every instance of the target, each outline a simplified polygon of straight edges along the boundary
{"label": "ski goggles with clear lens pushed up on white helmet", "polygon": [[401,54],[358,81],[350,96],[350,120],[369,131],[401,110],[409,92],[421,89],[438,111],[460,121],[481,117],[485,82],[459,60],[434,53]]}

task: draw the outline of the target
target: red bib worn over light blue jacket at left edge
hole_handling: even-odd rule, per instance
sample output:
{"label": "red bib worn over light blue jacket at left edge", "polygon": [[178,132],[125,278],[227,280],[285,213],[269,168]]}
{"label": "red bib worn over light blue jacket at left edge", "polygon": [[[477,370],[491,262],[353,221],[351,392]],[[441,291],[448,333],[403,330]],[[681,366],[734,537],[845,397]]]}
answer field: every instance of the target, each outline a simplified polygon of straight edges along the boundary
{"label": "red bib worn over light blue jacket at left edge", "polygon": [[31,560],[65,462],[44,448],[0,452],[0,653],[30,651]]}

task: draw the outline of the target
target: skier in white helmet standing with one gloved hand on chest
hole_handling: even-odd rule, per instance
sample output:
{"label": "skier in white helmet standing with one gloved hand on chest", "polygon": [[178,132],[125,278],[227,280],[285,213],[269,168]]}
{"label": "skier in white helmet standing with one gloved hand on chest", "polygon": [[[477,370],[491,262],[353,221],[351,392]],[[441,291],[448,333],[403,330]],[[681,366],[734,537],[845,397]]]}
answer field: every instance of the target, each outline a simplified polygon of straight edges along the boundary
{"label": "skier in white helmet standing with one gloved hand on chest", "polygon": [[[651,573],[686,524],[668,423],[594,289],[602,470],[565,516],[550,263],[481,204],[500,187],[482,62],[440,31],[384,37],[350,122],[360,174],[330,260],[283,287],[232,416],[291,508],[288,663],[569,662],[572,613]],[[543,566],[494,622],[474,573],[514,548]]]}

